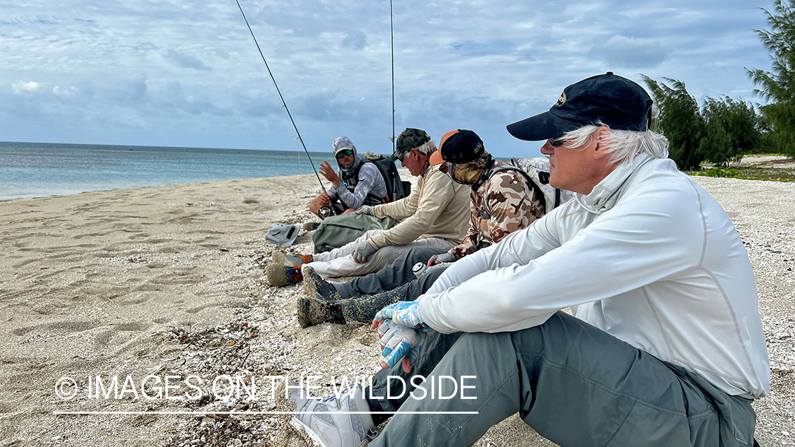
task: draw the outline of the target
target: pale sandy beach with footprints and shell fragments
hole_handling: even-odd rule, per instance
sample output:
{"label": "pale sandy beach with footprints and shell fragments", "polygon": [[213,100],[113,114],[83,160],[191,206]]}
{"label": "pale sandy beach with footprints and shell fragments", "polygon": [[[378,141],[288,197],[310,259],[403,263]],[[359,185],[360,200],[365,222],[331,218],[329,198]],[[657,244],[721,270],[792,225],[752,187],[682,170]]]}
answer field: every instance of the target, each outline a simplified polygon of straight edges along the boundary
{"label": "pale sandy beach with footprints and shell fragments", "polygon": [[[696,181],[727,210],[754,266],[772,373],[770,395],[754,403],[756,437],[793,444],[795,183]],[[312,445],[286,415],[163,412],[292,410],[267,386],[215,399],[209,381],[221,375],[317,375],[316,394],[328,395],[335,376],[378,371],[369,327],[301,329],[301,285],[270,287],[264,276],[276,248],[267,229],[316,222],[306,203],[318,190],[313,175],[296,175],[0,202],[0,447]],[[311,252],[311,235],[287,251]],[[185,398],[194,390],[177,381],[166,395],[178,399],[148,399],[158,389],[142,385],[150,375],[198,376],[202,397]],[[129,388],[89,397],[90,376],[118,376],[122,391],[130,376],[139,398]],[[77,391],[73,399],[56,393],[67,377],[76,387],[60,391]],[[553,443],[514,415],[476,445]]]}

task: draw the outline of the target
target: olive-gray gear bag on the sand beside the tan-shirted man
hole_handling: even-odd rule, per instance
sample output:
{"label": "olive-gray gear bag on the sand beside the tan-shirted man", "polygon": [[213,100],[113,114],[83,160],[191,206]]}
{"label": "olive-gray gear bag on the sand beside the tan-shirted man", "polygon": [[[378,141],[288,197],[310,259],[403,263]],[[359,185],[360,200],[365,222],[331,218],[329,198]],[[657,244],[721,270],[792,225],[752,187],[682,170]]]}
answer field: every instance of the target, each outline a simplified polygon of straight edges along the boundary
{"label": "olive-gray gear bag on the sand beside the tan-shirted man", "polygon": [[393,218],[376,218],[369,214],[348,213],[323,219],[312,233],[315,252],[328,252],[339,249],[348,242],[355,241],[369,229],[390,229],[395,224]]}

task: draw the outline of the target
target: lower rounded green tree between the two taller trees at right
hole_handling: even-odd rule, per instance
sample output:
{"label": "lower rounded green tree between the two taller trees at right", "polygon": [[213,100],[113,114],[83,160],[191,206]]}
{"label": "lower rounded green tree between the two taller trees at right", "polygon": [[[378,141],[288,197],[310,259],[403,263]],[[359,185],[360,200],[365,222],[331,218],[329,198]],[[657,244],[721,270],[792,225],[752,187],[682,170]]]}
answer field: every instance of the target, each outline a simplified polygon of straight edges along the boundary
{"label": "lower rounded green tree between the two taller trees at right", "polygon": [[705,133],[699,149],[712,164],[727,166],[730,161],[742,159],[743,153],[758,152],[762,143],[761,121],[747,102],[707,98],[701,116]]}

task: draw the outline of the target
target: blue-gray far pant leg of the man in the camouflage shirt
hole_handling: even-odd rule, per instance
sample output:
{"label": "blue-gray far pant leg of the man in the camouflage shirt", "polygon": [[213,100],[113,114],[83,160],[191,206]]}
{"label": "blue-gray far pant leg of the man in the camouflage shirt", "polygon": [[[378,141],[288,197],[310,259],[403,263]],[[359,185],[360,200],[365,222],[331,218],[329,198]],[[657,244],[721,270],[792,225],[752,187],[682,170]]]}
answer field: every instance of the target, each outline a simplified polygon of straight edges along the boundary
{"label": "blue-gray far pant leg of the man in the camouflage shirt", "polygon": [[[395,287],[417,279],[417,276],[414,276],[411,271],[414,264],[418,262],[428,262],[431,256],[440,255],[444,252],[448,252],[448,250],[428,246],[413,247],[401,254],[401,256],[398,256],[396,260],[378,272],[354,279],[349,283],[335,284],[335,287],[337,287],[339,294],[343,295],[343,298],[390,291]],[[415,296],[414,298],[417,297]]]}

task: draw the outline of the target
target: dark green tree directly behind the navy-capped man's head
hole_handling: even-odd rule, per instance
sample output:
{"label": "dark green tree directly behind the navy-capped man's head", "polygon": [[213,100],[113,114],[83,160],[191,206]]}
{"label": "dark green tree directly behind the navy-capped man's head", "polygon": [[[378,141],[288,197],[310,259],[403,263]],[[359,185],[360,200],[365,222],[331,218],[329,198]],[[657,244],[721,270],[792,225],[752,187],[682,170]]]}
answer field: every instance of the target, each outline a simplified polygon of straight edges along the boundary
{"label": "dark green tree directly behind the navy-capped man's head", "polygon": [[707,130],[696,98],[677,79],[663,78],[669,86],[641,76],[660,108],[660,127],[670,143],[669,157],[680,169],[699,169],[707,158],[700,144]]}

